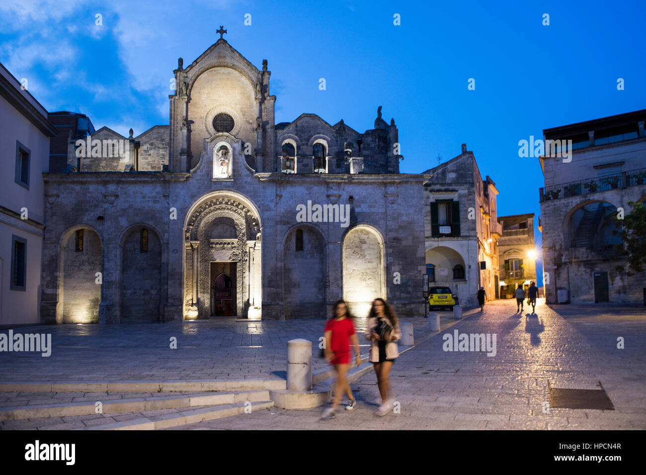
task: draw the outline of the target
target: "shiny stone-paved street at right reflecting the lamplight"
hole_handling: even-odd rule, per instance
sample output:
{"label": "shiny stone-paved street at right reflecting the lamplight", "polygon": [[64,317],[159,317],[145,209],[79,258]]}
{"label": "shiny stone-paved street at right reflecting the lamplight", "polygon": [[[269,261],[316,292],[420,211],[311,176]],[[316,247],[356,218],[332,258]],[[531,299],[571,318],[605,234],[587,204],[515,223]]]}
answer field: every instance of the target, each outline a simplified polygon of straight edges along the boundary
{"label": "shiny stone-paved street at right reflecting the lamplight", "polygon": [[[485,311],[419,344],[391,372],[401,412],[377,417],[373,373],[353,383],[359,405],[318,421],[323,408],[280,410],[216,419],[176,429],[644,429],[646,312],[642,308],[545,306],[514,313],[515,301]],[[497,354],[444,352],[443,335],[495,333]],[[625,349],[618,349],[618,337]],[[603,385],[615,410],[550,408],[557,388]]]}

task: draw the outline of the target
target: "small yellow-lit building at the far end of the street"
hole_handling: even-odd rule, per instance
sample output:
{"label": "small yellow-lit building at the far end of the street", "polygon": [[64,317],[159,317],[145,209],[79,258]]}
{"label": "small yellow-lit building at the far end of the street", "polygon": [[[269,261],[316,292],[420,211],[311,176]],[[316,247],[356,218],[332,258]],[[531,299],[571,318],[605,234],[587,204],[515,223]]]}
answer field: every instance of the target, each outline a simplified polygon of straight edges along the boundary
{"label": "small yellow-lit building at the far end of the street", "polygon": [[498,216],[503,236],[498,240],[501,299],[512,299],[521,284],[526,290],[536,280],[534,213]]}

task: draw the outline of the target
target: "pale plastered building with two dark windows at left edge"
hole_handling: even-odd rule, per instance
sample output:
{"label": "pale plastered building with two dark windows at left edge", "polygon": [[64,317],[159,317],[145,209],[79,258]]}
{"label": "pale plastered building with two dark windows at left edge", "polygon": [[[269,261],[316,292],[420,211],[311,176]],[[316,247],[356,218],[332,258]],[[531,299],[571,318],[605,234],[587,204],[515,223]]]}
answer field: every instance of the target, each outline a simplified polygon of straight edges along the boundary
{"label": "pale plastered building with two dark windows at left edge", "polygon": [[0,325],[40,322],[47,111],[0,64]]}

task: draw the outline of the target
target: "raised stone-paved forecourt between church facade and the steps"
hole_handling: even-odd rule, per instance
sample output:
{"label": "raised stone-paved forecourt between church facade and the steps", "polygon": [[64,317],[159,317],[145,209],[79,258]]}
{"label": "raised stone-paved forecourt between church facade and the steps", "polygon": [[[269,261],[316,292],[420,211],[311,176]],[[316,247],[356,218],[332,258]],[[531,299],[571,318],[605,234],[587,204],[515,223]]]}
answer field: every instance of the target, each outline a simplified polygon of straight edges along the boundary
{"label": "raised stone-paved forecourt between church facade and the steps", "polygon": [[[443,326],[452,315],[442,312]],[[413,322],[430,335],[428,320]],[[360,332],[366,319],[356,321]],[[286,377],[287,341],[305,338],[318,353],[325,321],[234,319],[163,324],[43,325],[14,333],[51,333],[52,354],[0,352],[0,381],[178,381],[182,379],[280,379]],[[8,333],[8,330],[0,330]],[[171,350],[171,337],[177,349]],[[360,337],[361,352],[367,352]],[[313,368],[326,367],[314,358]]]}

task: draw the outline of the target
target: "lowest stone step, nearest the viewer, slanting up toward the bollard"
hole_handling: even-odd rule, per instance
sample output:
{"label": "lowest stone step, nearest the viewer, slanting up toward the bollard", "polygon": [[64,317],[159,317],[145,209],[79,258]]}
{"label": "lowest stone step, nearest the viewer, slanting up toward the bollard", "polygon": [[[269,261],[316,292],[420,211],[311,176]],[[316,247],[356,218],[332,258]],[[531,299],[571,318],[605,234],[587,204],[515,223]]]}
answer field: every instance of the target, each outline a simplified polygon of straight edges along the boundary
{"label": "lowest stone step, nearest the viewer, slanting up toward the bollard", "polygon": [[247,407],[249,407],[247,410],[253,412],[254,410],[267,409],[273,406],[273,401],[255,401],[250,405],[233,403],[164,414],[163,416],[150,416],[130,421],[106,423],[77,430],[156,430],[244,414]]}

